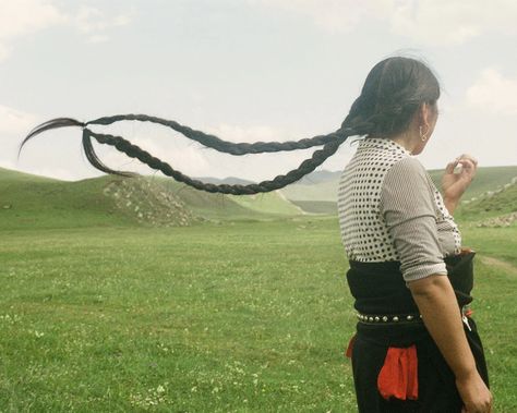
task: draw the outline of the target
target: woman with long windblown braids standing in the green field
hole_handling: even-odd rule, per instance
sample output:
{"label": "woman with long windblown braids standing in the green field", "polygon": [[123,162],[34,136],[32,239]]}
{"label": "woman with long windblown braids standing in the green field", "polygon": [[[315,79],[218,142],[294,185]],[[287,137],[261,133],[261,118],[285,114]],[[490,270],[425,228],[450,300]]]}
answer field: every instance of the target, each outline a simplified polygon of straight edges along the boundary
{"label": "woman with long windblown braids standing in the green field", "polygon": [[[240,195],[296,182],[322,165],[349,136],[365,136],[342,172],[338,201],[350,263],[347,279],[359,318],[348,349],[359,411],[491,412],[483,350],[468,308],[474,253],[461,247],[450,215],[470,184],[477,162],[468,155],[449,162],[442,197],[413,157],[433,133],[438,97],[438,82],[425,64],[393,57],[370,71],[341,127],[328,135],[236,144],[175,121],[127,114],[87,123],[56,119],[31,132],[22,146],[46,130],[80,126],[87,159],[101,171],[125,173],[99,160],[92,138],[199,190]],[[159,123],[232,155],[324,146],[299,168],[272,181],[215,185],[184,175],[120,136],[87,127],[123,120]],[[455,173],[458,165],[461,172]]]}

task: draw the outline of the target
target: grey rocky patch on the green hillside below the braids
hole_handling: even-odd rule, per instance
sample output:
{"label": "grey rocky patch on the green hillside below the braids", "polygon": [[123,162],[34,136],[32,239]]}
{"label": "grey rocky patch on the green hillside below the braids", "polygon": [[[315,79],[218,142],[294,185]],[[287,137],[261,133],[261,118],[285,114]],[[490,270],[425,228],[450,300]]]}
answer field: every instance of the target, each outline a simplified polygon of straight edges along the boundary
{"label": "grey rocky patch on the green hillside below the braids", "polygon": [[199,220],[175,194],[142,177],[113,180],[105,186],[104,194],[122,214],[140,223],[185,227]]}

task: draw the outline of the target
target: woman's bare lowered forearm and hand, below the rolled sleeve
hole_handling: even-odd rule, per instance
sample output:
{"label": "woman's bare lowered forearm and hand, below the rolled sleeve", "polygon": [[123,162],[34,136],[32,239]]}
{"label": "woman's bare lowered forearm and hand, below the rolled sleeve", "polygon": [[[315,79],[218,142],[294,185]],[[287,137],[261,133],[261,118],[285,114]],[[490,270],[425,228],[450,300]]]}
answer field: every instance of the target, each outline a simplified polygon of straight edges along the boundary
{"label": "woman's bare lowered forearm and hand, below the rolled sleeve", "polygon": [[491,412],[492,394],[476,367],[460,311],[447,277],[432,275],[408,282],[423,323],[456,377],[466,412]]}

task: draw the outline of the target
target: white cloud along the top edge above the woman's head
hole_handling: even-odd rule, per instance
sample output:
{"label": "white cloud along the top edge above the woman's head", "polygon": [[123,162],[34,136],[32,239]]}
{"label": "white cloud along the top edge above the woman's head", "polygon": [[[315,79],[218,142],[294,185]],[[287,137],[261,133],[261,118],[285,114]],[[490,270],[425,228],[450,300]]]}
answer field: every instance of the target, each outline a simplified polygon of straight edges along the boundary
{"label": "white cloud along the top edge above the woman's head", "polygon": [[386,23],[388,29],[431,46],[457,46],[483,34],[516,34],[513,0],[249,0],[252,5],[305,15],[329,32],[352,32],[360,24]]}

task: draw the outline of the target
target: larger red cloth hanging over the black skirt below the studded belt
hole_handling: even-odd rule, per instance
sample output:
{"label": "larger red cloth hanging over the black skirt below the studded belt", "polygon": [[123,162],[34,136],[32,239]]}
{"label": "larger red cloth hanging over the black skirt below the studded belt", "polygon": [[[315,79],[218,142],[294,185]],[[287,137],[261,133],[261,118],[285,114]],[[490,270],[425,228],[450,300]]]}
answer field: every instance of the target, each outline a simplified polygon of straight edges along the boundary
{"label": "larger red cloth hanging over the black skirt below the studded belt", "polygon": [[408,348],[390,347],[377,377],[377,389],[388,400],[418,399],[418,360],[414,344]]}

